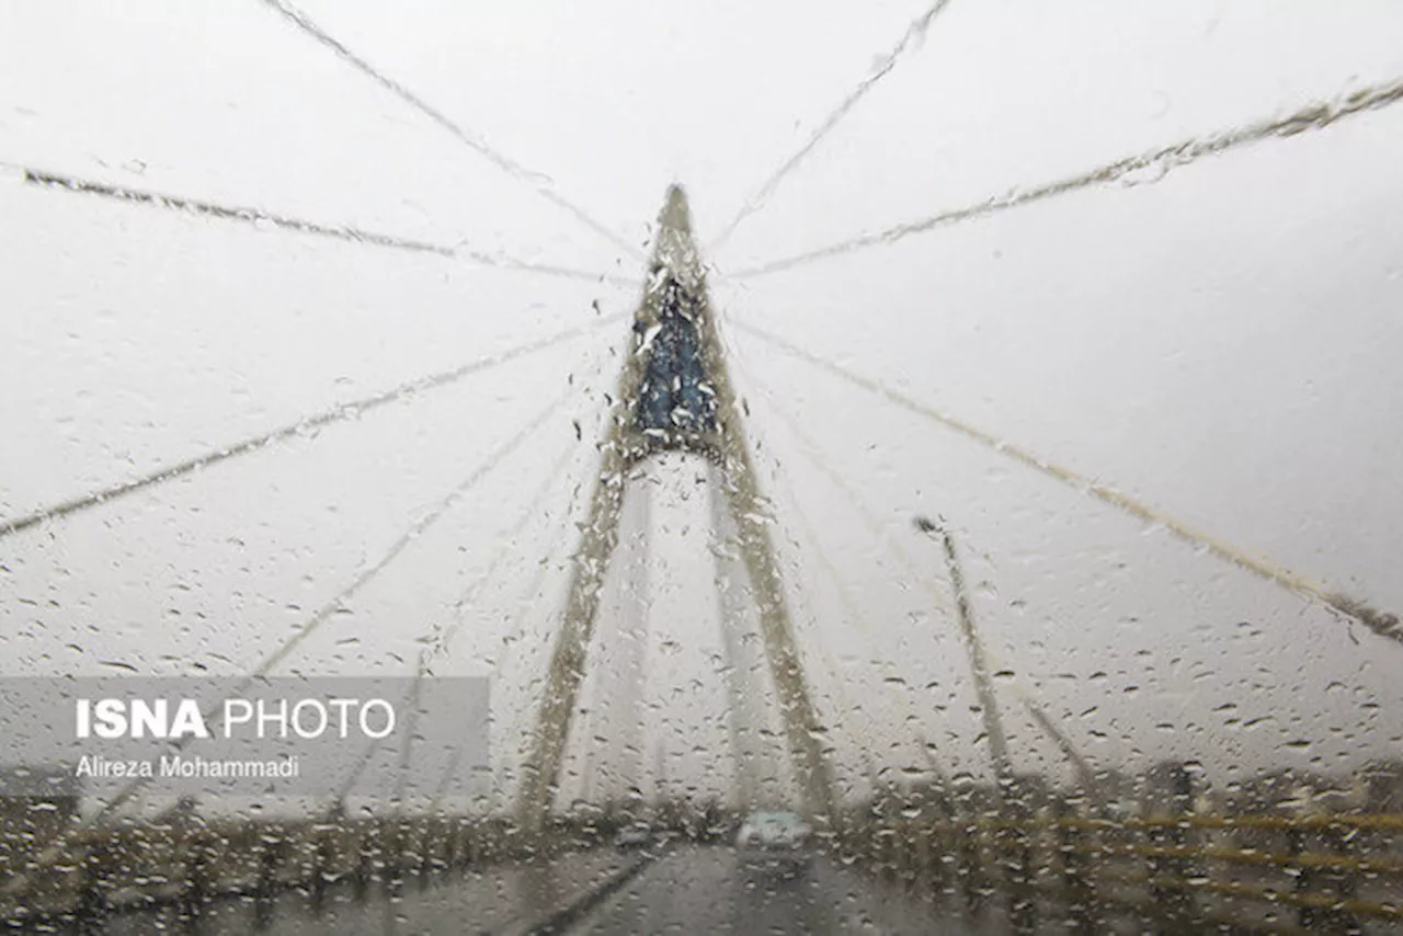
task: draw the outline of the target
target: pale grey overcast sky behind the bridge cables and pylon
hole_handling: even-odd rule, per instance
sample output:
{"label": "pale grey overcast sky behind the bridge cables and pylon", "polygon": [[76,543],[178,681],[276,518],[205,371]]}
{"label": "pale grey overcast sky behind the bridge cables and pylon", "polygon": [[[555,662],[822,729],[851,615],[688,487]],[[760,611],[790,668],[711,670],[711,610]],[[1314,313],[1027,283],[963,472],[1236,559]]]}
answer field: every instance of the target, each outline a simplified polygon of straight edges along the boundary
{"label": "pale grey overcast sky behind the bridge cables and pylon", "polygon": [[[636,279],[641,261],[542,192],[641,251],[680,181],[711,243],[929,4],[297,8],[519,168],[257,0],[7,4],[0,518],[630,312],[638,288],[599,278]],[[739,274],[1396,81],[1399,35],[1385,0],[953,0],[710,257],[849,776],[863,733],[878,766],[923,765],[923,740],[946,769],[985,770],[918,512],[958,532],[1000,665],[1097,763],[1198,756],[1228,775],[1400,754],[1399,644],[730,327],[1397,612],[1403,105]],[[48,191],[24,167],[588,275]],[[459,620],[442,667],[498,676],[509,741],[539,690],[624,331],[0,540],[4,669],[247,671],[549,413],[288,661],[408,671]],[[662,466],[652,486],[645,696],[672,770],[724,784],[699,470]],[[1062,772],[1012,681],[999,692],[1021,766]]]}

